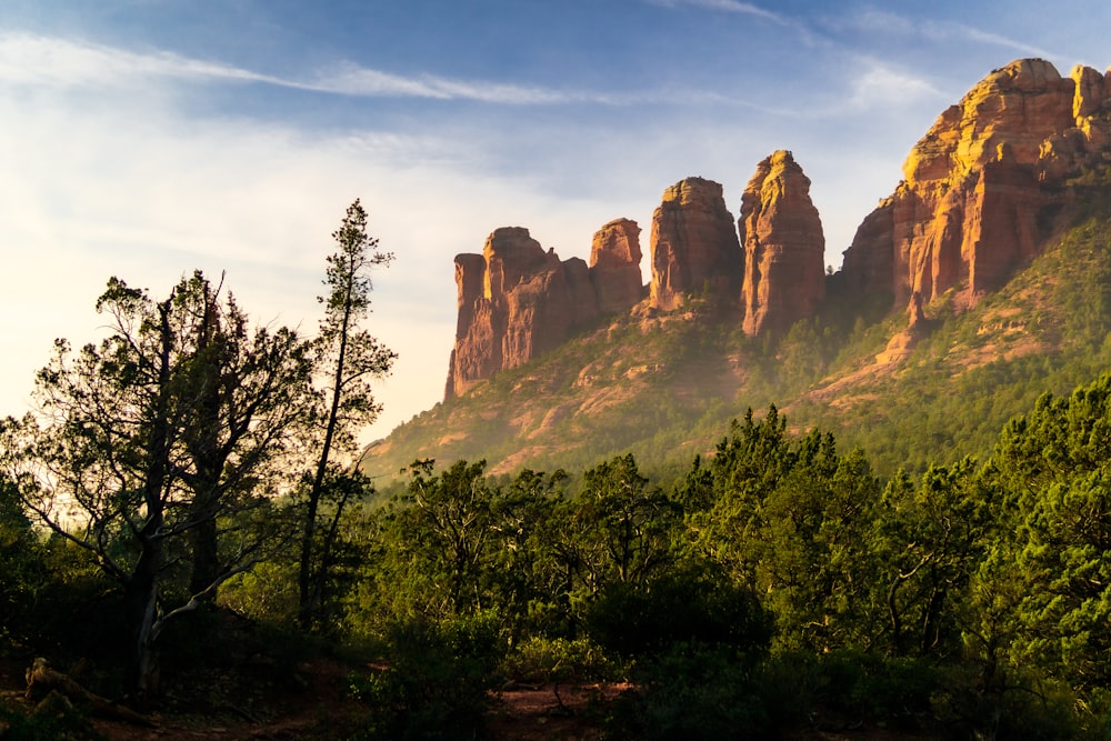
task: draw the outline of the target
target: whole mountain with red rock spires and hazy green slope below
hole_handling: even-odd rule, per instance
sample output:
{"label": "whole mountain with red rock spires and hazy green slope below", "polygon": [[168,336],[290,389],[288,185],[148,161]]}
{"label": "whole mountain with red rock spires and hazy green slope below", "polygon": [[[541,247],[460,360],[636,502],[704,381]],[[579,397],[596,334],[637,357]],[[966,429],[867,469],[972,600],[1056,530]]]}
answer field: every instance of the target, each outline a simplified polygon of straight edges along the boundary
{"label": "whole mountain with red rock spires and hazy green slope below", "polygon": [[758,166],[735,230],[717,183],[664,191],[652,281],[639,301],[622,289],[628,309],[591,301],[613,294],[607,264],[639,261],[634,223],[617,241],[599,232],[589,268],[499,230],[456,260],[446,400],[377,444],[367,470],[390,478],[423,458],[551,470],[629,451],[678,472],[730,419],[772,403],[888,474],[983,454],[1039,393],[1111,363],[1109,89],[1042,60],[993,71],[912,148],[834,274],[814,270],[821,223],[790,152]]}

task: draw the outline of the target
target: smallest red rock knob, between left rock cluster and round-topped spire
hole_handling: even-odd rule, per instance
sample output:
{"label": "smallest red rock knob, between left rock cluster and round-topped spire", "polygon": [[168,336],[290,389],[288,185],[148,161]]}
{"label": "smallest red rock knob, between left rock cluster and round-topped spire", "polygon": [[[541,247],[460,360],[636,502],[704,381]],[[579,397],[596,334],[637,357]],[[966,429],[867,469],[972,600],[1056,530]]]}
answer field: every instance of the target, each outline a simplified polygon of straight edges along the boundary
{"label": "smallest red rock knob, between left rock cluster and round-topped spire", "polygon": [[615,219],[594,233],[590,248],[590,279],[602,313],[627,311],[640,302],[640,227],[630,219]]}

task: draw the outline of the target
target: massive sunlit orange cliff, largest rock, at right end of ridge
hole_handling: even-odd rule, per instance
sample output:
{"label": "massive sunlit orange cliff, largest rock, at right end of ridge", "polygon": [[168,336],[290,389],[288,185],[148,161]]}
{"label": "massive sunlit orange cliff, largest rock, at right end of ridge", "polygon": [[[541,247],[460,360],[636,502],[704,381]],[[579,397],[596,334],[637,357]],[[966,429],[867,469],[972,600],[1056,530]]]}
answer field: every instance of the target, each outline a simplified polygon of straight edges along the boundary
{"label": "massive sunlit orange cliff, largest rock, at right end of ridge", "polygon": [[903,181],[857,231],[842,274],[897,306],[959,289],[965,306],[1005,281],[1061,226],[1072,178],[1111,159],[1111,81],[1041,59],[993,71],[944,111]]}

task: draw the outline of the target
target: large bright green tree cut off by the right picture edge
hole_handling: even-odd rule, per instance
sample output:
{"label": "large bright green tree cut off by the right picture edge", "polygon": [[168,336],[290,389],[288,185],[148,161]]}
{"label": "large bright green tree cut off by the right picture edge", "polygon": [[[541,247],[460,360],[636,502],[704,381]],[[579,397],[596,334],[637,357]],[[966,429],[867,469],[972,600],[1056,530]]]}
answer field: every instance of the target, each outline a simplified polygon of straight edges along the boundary
{"label": "large bright green tree cut off by the right picture edge", "polygon": [[1111,685],[1111,373],[1044,394],[992,458],[1009,537],[999,578],[1021,585],[1012,660],[1090,692]]}

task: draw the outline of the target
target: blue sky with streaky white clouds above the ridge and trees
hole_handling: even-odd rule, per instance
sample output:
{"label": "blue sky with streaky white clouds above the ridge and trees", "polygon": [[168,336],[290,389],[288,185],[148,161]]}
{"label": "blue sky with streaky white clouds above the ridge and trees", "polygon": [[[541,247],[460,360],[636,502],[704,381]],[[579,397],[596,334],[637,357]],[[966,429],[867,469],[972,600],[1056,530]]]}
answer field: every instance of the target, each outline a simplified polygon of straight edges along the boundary
{"label": "blue sky with streaky white clouds above the ridge and trees", "polygon": [[194,269],[316,331],[361,199],[396,254],[366,327],[399,353],[364,438],[442,399],[452,259],[526,227],[562,259],[788,149],[827,263],[934,119],[1023,57],[1111,64],[1105,0],[0,0],[0,414],[54,338],[103,337],[111,277]]}

